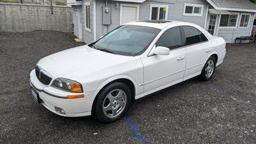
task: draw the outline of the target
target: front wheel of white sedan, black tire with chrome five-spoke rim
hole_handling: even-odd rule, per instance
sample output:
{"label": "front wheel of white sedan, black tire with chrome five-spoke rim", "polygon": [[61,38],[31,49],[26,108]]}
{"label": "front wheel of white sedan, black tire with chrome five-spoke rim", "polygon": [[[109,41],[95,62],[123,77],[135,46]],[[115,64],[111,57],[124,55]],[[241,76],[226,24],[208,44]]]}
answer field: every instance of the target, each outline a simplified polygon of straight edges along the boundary
{"label": "front wheel of white sedan, black tire with chrome five-spoke rim", "polygon": [[131,103],[132,93],[126,84],[109,84],[96,99],[93,116],[103,123],[115,122],[122,118]]}

